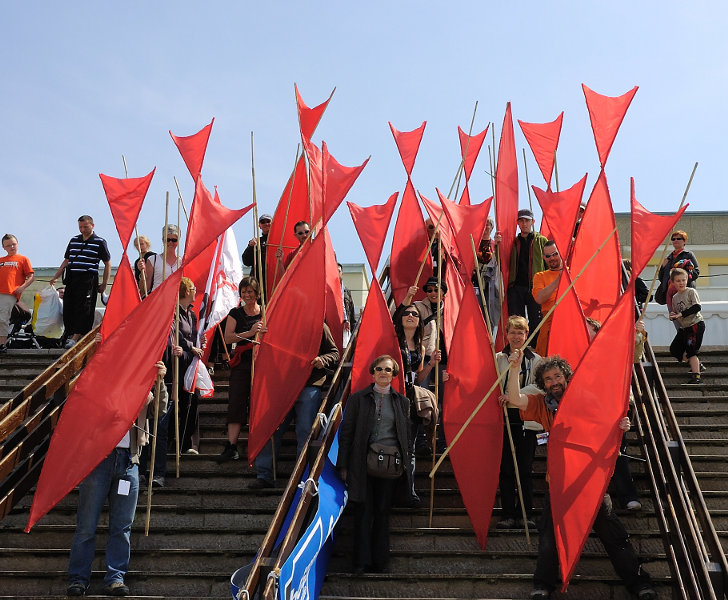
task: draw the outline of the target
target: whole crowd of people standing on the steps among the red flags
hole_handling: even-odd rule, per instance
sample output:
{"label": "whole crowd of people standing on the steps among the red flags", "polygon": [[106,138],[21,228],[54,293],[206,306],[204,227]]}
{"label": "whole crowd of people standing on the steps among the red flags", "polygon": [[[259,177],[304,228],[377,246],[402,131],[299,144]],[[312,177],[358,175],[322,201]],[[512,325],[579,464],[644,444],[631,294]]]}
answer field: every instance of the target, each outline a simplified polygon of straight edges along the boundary
{"label": "whole crowd of people standing on the steps among the red flags", "polygon": [[[260,268],[260,265],[265,265],[271,221],[270,215],[261,215],[261,235],[251,240],[245,248],[242,260],[251,268],[250,275],[240,281],[240,304],[230,311],[221,330],[221,343],[231,347],[231,356],[227,441],[218,456],[219,462],[238,460],[241,456],[238,439],[248,423],[254,372],[253,348],[267,331],[260,306],[266,269]],[[509,281],[504,283],[499,278],[497,255],[502,238],[494,231],[494,223],[490,218],[476,251],[477,264],[472,274],[472,285],[481,299],[483,314],[490,329],[502,327],[507,340],[503,350],[496,356],[496,364],[501,372],[507,372],[504,381],[507,392],[500,397],[500,402],[506,409],[514,450],[511,451],[506,431],[499,477],[502,512],[501,519],[495,525],[498,529],[537,527],[532,465],[539,440],[548,432],[572,374],[571,367],[563,359],[546,356],[549,322],[541,325],[539,335],[530,346],[525,345],[529,332],[539,325],[543,315],[554,305],[560,276],[566,267],[555,242],[534,230],[534,218],[530,210],[518,212],[517,225],[519,231],[513,251],[510,257],[502,258],[510,261]],[[62,278],[65,286],[63,320],[66,348],[71,348],[92,329],[97,297],[105,291],[111,272],[111,256],[105,240],[94,232],[93,219],[89,215],[82,215],[78,219],[78,228],[79,235],[69,241],[64,259],[50,280],[53,286]],[[288,268],[311,236],[311,227],[305,221],[295,223],[293,229],[299,247],[288,253],[276,250],[280,272]],[[177,226],[165,226],[160,253],[151,251],[151,242],[145,236],[135,239],[139,259],[135,262],[134,271],[142,298],[153,293],[165,278],[181,267],[179,236]],[[701,371],[704,369],[698,354],[705,323],[695,289],[699,266],[695,256],[685,249],[687,238],[687,233],[681,230],[671,235],[674,251],[660,265],[657,300],[659,302],[660,297],[664,298],[669,318],[677,330],[670,352],[678,361],[688,364],[690,383],[695,384],[701,382]],[[2,244],[7,256],[0,259],[0,352],[5,352],[10,312],[20,302],[22,292],[33,282],[34,274],[30,261],[18,254],[18,240],[14,235],[3,236]],[[433,251],[437,246],[433,244]],[[429,457],[432,452],[441,452],[445,445],[442,428],[436,425],[443,400],[447,401],[443,386],[448,380],[443,313],[448,290],[442,278],[447,257],[438,252],[434,262],[437,265],[435,276],[421,288],[425,298],[415,301],[414,297],[420,288],[412,286],[392,315],[400,354],[395,357],[379,356],[372,362],[370,374],[373,382],[363,390],[352,390],[354,393],[348,398],[341,425],[337,466],[354,506],[353,569],[357,573],[388,569],[389,513],[398,496],[397,490],[402,489],[404,505],[419,506],[420,499],[414,485],[416,460]],[[626,282],[631,265],[628,261],[625,263]],[[101,264],[103,271],[99,281]],[[276,273],[277,278],[280,272]],[[262,284],[258,281],[258,274],[263,277]],[[341,265],[339,274],[341,277]],[[345,315],[342,325],[346,343],[354,329],[356,314],[351,294],[343,285],[343,280],[341,285]],[[637,315],[639,306],[647,302],[646,288],[644,293],[642,288],[638,289]],[[179,372],[184,373],[195,358],[203,356],[204,346],[199,347],[201,344],[198,340],[201,338],[193,307],[195,292],[194,283],[182,277],[178,294],[179,319],[171,326],[167,348],[159,363],[159,374],[164,378],[165,385],[157,422],[155,456],[149,456],[148,448],[142,451],[143,444],[136,440],[133,434],[135,429],[132,428],[132,435],[127,434],[119,442],[119,446],[99,466],[99,472],[94,471],[81,485],[77,532],[69,565],[69,595],[83,595],[88,587],[93,557],[89,548],[93,548],[98,513],[106,496],[110,498],[110,512],[113,513],[110,517],[113,533],[110,532],[107,542],[106,591],[119,596],[129,593],[124,584],[128,569],[129,530],[133,518],[133,508],[129,507],[136,504],[138,487],[144,483],[155,487],[165,485],[167,453],[172,443],[178,443],[184,453],[199,452],[198,396],[195,392],[185,390],[181,377],[177,378],[176,387],[172,378],[175,359],[180,364]],[[510,318],[501,323],[500,307],[504,299]],[[596,334],[600,323],[587,321],[590,331]],[[641,322],[637,323],[636,336],[638,342],[646,337]],[[282,416],[281,426],[255,459],[257,477],[250,487],[267,488],[274,485],[275,455],[282,434],[292,420],[296,422],[297,449],[300,452],[317,414],[328,373],[339,360],[337,343],[329,327],[324,324],[318,355],[311,361],[311,375],[298,392],[293,409],[288,415]],[[400,371],[404,375],[404,395],[394,391],[391,386],[393,378]],[[179,420],[172,417],[174,411],[167,398],[178,403]],[[629,419],[623,419],[615,427],[626,432]],[[175,436],[179,437],[178,442]],[[623,440],[624,444],[626,442]],[[154,464],[154,477],[152,481],[146,481],[151,463]],[[130,475],[130,470],[135,470],[135,473]],[[520,475],[520,495],[517,493],[519,484],[516,471]],[[103,483],[100,483],[102,480]],[[122,493],[120,480],[128,482],[123,484],[125,498],[123,502],[115,502],[115,496]],[[641,508],[629,464],[622,456],[615,469],[614,484],[623,508]],[[118,486],[118,491],[112,489],[109,492],[109,486]],[[87,503],[88,510],[82,510]],[[642,600],[655,598],[649,576],[640,568],[636,553],[608,495],[599,510],[594,528],[627,587]],[[539,558],[531,597],[548,598],[558,578],[548,495],[538,530]]]}

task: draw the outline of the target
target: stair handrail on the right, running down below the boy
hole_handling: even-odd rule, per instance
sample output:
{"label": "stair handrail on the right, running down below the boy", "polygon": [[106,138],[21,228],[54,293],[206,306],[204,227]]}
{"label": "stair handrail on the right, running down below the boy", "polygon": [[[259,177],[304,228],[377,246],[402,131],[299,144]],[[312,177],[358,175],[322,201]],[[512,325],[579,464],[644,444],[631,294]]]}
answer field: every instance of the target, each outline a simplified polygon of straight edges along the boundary
{"label": "stair handrail on the right, running down below the boy", "polygon": [[636,364],[632,390],[670,570],[682,598],[718,600],[728,590],[728,562],[649,343],[645,353],[654,377]]}

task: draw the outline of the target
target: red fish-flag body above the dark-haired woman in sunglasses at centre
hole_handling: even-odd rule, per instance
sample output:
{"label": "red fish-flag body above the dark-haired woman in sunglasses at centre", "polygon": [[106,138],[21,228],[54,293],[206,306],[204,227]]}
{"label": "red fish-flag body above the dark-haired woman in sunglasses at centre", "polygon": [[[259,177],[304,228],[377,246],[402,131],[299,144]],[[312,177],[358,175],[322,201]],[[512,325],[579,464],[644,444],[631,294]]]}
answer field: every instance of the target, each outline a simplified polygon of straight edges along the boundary
{"label": "red fish-flag body above the dark-haired woman in sunglasses at centre", "polygon": [[[415,281],[423,259],[425,267],[420,278]],[[430,277],[432,277],[430,239],[427,236],[420,205],[417,203],[415,188],[408,179],[392,236],[389,280],[395,304],[400,304],[404,300],[410,286],[419,286]]]}

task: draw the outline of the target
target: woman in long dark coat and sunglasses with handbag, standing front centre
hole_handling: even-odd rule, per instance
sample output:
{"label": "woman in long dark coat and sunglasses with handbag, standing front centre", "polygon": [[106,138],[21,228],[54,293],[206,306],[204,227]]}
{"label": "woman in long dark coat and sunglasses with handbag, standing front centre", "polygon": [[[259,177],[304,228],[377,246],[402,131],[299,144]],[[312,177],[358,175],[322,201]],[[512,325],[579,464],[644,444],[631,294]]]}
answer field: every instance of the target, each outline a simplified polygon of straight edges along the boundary
{"label": "woman in long dark coat and sunglasses with handbag, standing front centre", "polygon": [[[407,465],[409,400],[392,389],[399,364],[379,356],[369,367],[374,383],[352,394],[339,430],[336,464],[354,508],[354,572],[381,573],[389,567],[389,513],[399,479],[373,477],[367,472],[372,443],[396,445]],[[402,477],[410,478],[409,469]],[[408,482],[408,488],[411,487]]]}

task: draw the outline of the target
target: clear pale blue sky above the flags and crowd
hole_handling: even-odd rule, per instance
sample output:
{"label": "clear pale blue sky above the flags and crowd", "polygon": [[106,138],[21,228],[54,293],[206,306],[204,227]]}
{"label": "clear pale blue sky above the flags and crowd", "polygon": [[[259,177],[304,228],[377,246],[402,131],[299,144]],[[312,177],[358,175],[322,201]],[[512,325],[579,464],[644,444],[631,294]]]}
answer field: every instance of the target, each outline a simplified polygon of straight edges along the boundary
{"label": "clear pale blue sky above the flags and crowd", "polygon": [[[203,179],[223,204],[257,196],[273,212],[293,166],[297,82],[309,105],[336,93],[314,136],[343,164],[371,155],[348,199],[384,202],[405,173],[387,121],[428,122],[415,187],[447,191],[459,163],[457,126],[514,118],[550,121],[564,110],[559,179],[598,172],[581,83],[619,95],[639,85],[607,163],[617,211],[629,177],[650,210],[675,210],[693,163],[690,210],[724,210],[728,134],[728,9],[720,2],[7,2],[0,35],[2,226],[36,266],[57,266],[76,219],[89,213],[120,244],[98,173],[157,173],[140,233],[160,246],[173,176],[189,204],[192,182],[168,130],[189,135],[215,117]],[[490,140],[490,138],[489,138]],[[489,142],[490,143],[490,142]],[[516,126],[519,160],[525,147]],[[543,185],[528,152],[532,184]],[[521,160],[522,162],[522,160]],[[484,146],[473,201],[490,195]],[[520,165],[521,205],[528,205]],[[535,202],[535,199],[534,199]],[[342,262],[363,262],[345,206],[332,222]],[[235,227],[241,249],[252,213]],[[383,259],[388,249],[383,252]]]}

